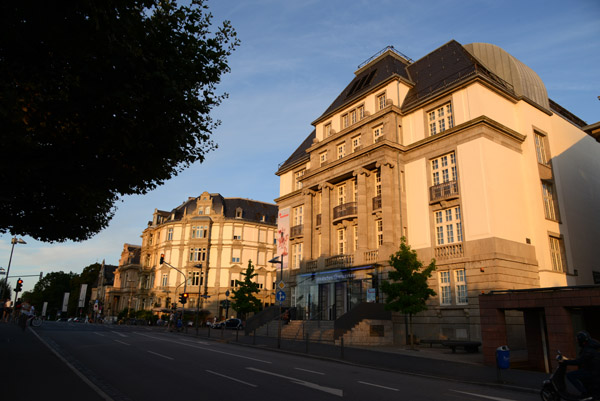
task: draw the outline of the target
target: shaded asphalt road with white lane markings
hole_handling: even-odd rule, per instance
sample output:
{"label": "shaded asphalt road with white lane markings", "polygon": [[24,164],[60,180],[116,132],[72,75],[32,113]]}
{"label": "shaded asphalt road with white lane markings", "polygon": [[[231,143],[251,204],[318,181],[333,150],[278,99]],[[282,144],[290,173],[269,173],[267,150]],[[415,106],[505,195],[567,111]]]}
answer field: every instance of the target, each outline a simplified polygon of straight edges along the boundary
{"label": "shaded asphalt road with white lane markings", "polygon": [[531,393],[232,345],[159,328],[45,322],[35,332],[106,400],[539,399]]}

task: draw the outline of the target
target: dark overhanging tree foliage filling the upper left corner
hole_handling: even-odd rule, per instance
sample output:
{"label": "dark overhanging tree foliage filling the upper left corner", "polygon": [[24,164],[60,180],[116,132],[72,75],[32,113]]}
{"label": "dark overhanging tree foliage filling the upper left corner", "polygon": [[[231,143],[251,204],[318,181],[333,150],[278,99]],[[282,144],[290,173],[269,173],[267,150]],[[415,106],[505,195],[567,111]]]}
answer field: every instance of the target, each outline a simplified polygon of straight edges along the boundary
{"label": "dark overhanging tree foliage filling the upper left corner", "polygon": [[216,147],[239,41],[204,3],[0,2],[0,233],[86,240]]}

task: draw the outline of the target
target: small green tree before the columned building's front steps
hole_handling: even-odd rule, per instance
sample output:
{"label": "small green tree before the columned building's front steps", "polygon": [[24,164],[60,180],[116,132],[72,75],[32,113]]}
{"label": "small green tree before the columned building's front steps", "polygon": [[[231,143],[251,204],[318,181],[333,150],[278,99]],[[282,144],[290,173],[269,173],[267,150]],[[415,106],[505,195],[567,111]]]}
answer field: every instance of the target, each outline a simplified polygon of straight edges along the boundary
{"label": "small green tree before the columned building's front steps", "polygon": [[408,315],[408,335],[410,346],[414,347],[412,316],[427,310],[427,300],[436,293],[427,285],[427,279],[435,270],[435,259],[426,268],[417,259],[417,252],[410,249],[406,238],[402,237],[400,250],[390,257],[393,270],[388,273],[392,281],[384,280],[381,289],[386,294],[385,308]]}

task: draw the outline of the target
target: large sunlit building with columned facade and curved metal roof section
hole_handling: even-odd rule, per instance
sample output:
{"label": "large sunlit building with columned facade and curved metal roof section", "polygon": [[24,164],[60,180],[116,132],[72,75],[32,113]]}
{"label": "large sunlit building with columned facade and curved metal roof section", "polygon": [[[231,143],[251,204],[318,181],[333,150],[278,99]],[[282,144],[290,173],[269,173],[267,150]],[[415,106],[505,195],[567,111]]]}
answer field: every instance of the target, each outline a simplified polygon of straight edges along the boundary
{"label": "large sunlit building with columned facade and curved metal roof section", "polygon": [[600,144],[503,49],[453,40],[418,61],[384,49],[312,125],[276,173],[299,318],[383,302],[402,237],[437,264],[421,338],[481,339],[479,294],[600,274]]}

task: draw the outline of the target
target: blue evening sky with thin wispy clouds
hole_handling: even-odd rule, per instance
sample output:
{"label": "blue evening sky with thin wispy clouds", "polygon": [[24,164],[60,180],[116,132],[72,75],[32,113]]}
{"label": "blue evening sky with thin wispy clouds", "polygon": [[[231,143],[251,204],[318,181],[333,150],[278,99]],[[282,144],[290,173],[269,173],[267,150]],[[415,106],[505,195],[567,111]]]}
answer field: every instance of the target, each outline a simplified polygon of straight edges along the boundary
{"label": "blue evening sky with thin wispy clouds", "polygon": [[[208,0],[213,24],[230,20],[240,46],[218,86],[229,94],[212,113],[218,149],[165,185],[117,204],[108,228],[84,242],[22,237],[9,282],[30,290],[40,272],[80,273],[117,265],[123,244],[141,245],[154,209],[171,210],[204,191],[274,203],[275,175],[359,64],[386,46],[418,60],[454,39],[492,43],[531,67],[549,97],[592,124],[600,121],[599,0]],[[0,235],[0,267],[11,235]],[[21,237],[20,237],[21,238]],[[35,277],[30,277],[35,276]],[[4,276],[2,276],[4,277]]]}

